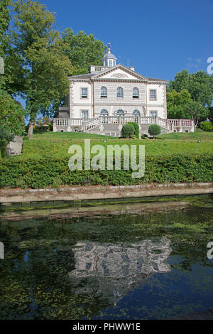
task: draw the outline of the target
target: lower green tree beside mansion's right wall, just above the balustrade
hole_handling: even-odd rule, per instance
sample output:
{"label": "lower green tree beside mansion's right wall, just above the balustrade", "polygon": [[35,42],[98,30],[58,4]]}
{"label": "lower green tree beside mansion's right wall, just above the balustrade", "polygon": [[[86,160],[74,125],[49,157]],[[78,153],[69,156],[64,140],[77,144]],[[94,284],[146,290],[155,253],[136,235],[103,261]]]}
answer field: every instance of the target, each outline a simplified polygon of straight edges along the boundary
{"label": "lower green tree beside mansion's right wall, just above the balustrade", "polygon": [[192,102],[190,93],[184,89],[180,92],[172,90],[167,93],[168,118],[185,118],[185,105]]}

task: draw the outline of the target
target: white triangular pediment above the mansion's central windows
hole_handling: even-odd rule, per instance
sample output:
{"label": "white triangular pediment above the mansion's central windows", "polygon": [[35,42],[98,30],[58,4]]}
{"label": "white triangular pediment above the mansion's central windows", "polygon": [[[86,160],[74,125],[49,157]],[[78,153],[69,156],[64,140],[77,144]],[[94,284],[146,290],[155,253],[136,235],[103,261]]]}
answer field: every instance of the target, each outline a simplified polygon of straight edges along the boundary
{"label": "white triangular pediment above the mansion's central windows", "polygon": [[126,68],[124,65],[116,65],[114,68],[108,68],[103,72],[97,73],[92,79],[111,79],[111,80],[144,80],[147,81],[143,75]]}

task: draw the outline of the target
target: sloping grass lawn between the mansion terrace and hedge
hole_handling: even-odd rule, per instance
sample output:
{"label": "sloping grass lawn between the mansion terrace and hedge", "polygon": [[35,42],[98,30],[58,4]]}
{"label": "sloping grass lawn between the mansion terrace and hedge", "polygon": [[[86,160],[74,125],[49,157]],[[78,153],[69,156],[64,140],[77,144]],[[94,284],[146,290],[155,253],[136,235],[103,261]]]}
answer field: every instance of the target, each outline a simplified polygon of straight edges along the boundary
{"label": "sloping grass lawn between the mansion terrace and hedge", "polygon": [[[91,140],[91,146],[102,144],[115,145],[145,145],[146,155],[170,156],[173,154],[199,154],[213,153],[213,132],[197,130],[195,133],[172,133],[158,136],[157,139],[117,139],[111,136],[101,136],[97,134],[84,134],[73,132],[42,132],[33,134],[33,139],[23,139],[23,154],[21,156],[10,157],[13,159],[40,158],[43,156],[62,157],[70,156],[68,149],[72,144],[84,146],[84,139]],[[104,142],[107,139],[107,142]],[[201,142],[198,143],[197,141]]]}

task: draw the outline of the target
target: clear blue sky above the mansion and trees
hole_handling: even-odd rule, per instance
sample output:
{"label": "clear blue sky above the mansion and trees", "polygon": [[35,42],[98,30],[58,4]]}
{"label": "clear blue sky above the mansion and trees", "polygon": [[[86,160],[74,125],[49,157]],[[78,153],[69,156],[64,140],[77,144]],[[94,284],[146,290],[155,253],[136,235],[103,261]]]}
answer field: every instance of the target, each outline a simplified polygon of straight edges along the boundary
{"label": "clear blue sky above the mansion and trees", "polygon": [[55,28],[94,34],[117,63],[148,77],[207,71],[213,56],[213,0],[39,0],[56,13]]}

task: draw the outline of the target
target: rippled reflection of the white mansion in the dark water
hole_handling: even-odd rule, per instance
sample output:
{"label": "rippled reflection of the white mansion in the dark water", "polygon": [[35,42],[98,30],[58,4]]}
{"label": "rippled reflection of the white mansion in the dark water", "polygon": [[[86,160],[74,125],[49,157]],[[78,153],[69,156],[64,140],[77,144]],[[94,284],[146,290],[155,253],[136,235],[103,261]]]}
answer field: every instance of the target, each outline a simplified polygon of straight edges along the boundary
{"label": "rippled reflection of the white mansion in the dark water", "polygon": [[114,302],[154,272],[170,271],[165,260],[171,250],[170,240],[165,237],[135,244],[78,243],[72,248],[75,270],[70,278],[79,287],[78,293],[100,293]]}

